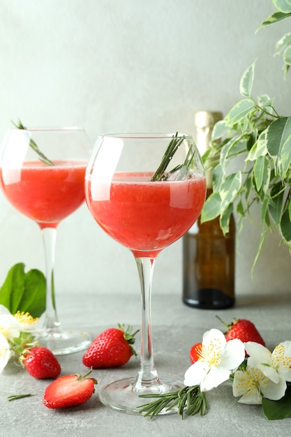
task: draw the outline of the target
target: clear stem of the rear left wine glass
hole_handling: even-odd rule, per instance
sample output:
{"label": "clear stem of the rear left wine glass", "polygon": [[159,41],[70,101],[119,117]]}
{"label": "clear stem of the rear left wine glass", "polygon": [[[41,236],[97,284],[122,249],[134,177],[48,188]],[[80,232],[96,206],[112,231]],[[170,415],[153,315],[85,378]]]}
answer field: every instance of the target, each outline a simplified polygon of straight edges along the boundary
{"label": "clear stem of the rear left wine glass", "polygon": [[54,295],[54,253],[57,239],[56,228],[43,228],[43,245],[45,249],[45,270],[46,270],[46,308],[44,329],[58,330],[60,323],[57,317],[56,300]]}

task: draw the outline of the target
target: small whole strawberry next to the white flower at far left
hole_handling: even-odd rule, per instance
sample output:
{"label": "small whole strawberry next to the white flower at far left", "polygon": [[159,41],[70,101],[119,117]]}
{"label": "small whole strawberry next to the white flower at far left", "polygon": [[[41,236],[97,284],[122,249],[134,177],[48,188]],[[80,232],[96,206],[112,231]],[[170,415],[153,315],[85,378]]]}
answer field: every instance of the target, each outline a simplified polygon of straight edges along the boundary
{"label": "small whole strawberry next to the white flower at far left", "polygon": [[61,366],[52,351],[41,346],[24,350],[20,362],[34,378],[55,378],[61,373]]}

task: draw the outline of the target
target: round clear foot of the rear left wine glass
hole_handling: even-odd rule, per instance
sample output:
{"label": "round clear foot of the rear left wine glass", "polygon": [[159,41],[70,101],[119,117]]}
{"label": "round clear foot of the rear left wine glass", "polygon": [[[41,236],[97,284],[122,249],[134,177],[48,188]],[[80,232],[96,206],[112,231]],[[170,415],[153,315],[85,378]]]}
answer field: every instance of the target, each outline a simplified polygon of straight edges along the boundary
{"label": "round clear foot of the rear left wine glass", "polygon": [[86,349],[91,344],[88,332],[49,329],[36,336],[40,346],[50,349],[54,355],[66,355]]}

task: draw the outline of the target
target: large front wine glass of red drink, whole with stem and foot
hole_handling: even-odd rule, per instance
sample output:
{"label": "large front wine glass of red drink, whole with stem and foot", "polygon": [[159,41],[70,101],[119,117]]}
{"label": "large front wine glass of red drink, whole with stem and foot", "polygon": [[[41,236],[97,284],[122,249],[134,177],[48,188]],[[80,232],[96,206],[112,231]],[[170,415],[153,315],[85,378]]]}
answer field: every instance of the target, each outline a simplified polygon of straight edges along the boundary
{"label": "large front wine glass of red drink, whole with stem and foot", "polygon": [[114,410],[135,414],[140,394],[183,387],[161,379],[154,366],[151,281],[158,253],[191,228],[205,191],[204,168],[190,135],[102,135],[96,142],[85,174],[86,202],[98,225],[133,253],[142,294],[140,371],[99,392]]}

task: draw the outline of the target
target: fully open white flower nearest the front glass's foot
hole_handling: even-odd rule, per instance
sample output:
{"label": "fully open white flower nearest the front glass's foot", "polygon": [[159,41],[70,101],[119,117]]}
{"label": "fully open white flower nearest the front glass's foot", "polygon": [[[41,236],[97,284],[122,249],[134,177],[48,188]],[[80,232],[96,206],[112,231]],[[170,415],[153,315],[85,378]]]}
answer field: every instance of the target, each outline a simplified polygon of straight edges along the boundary
{"label": "fully open white flower nearest the front glass's foot", "polygon": [[202,339],[201,357],[186,371],[184,384],[200,385],[202,392],[224,383],[244,361],[244,343],[239,339],[225,340],[219,329],[210,329]]}

